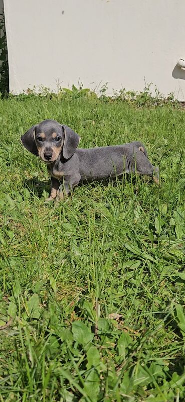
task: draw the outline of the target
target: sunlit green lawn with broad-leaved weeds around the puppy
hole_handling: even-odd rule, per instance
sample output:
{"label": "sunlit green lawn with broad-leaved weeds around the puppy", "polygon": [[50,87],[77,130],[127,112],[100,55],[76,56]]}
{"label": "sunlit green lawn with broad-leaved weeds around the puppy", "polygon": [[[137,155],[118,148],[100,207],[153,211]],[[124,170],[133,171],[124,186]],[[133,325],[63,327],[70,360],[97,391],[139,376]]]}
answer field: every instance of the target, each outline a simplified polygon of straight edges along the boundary
{"label": "sunlit green lawn with broad-leaved weeds around the puppy", "polygon": [[[0,104],[0,400],[184,401],[184,110],[87,93]],[[20,144],[44,119],[81,147],[142,141],[160,186],[123,176],[45,204],[46,166]]]}

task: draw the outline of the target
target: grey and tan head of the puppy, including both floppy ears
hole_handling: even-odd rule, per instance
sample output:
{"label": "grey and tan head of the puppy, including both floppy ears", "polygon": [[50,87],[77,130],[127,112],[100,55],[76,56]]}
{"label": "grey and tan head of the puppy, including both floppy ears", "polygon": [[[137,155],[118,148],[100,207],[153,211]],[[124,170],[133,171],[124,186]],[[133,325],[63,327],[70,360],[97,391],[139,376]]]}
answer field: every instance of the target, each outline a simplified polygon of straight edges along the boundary
{"label": "grey and tan head of the puppy, including both floppy ears", "polygon": [[80,137],[70,127],[55,120],[44,120],[32,126],[22,137],[25,148],[47,164],[55,162],[61,152],[69,159],[80,142]]}

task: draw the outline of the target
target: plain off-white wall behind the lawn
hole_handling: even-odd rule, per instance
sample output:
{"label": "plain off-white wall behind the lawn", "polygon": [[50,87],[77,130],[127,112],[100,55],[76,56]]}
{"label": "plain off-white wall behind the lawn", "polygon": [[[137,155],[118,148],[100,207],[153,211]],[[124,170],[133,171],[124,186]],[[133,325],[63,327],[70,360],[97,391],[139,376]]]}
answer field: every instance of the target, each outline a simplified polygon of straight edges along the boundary
{"label": "plain off-white wall behind the lawn", "polygon": [[[4,0],[10,90],[144,80],[185,99],[184,0]],[[176,67],[175,67],[176,66]]]}

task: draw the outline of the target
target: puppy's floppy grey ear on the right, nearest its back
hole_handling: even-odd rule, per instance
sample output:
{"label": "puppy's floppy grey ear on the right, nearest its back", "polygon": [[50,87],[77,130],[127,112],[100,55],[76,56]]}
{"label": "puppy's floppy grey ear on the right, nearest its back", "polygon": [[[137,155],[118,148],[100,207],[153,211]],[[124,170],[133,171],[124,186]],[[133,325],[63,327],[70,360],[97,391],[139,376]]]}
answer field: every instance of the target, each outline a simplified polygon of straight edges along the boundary
{"label": "puppy's floppy grey ear on the right, nearest its back", "polygon": [[80,136],[68,126],[63,125],[62,128],[64,131],[63,156],[65,159],[69,159],[78,147]]}

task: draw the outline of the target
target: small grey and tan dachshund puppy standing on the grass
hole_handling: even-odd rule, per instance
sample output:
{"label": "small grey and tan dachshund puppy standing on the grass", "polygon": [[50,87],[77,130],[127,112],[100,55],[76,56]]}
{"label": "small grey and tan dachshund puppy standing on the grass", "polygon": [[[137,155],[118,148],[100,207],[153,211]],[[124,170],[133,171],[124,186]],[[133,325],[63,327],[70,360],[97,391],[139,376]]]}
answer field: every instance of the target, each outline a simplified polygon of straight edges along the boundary
{"label": "small grey and tan dachshund puppy standing on the grass", "polygon": [[137,172],[158,182],[158,168],[147,158],[144,146],[134,141],[125,145],[77,149],[80,137],[55,120],[32,126],[22,137],[23,145],[48,166],[51,194],[47,200],[63,198],[83,180],[101,180]]}

